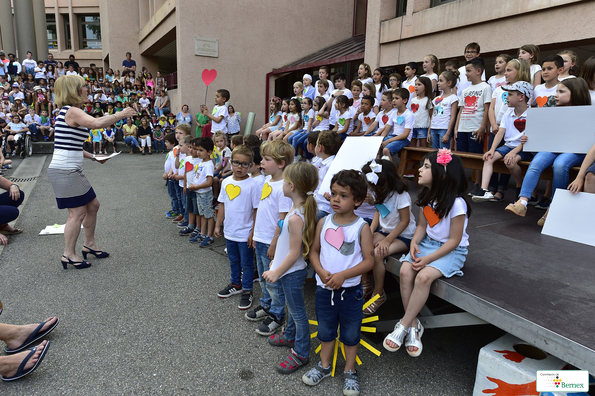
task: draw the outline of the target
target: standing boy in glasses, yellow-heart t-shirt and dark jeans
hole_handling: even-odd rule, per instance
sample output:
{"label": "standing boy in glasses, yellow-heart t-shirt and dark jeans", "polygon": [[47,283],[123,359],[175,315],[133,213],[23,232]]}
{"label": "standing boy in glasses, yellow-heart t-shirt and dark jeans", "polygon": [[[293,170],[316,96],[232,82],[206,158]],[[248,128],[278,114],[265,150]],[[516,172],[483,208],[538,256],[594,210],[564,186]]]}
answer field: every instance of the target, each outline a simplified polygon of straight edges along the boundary
{"label": "standing boy in glasses, yellow-heart t-shirt and dark jeans", "polygon": [[215,237],[221,238],[224,224],[227,256],[231,268],[230,283],[217,296],[228,298],[242,294],[238,308],[252,306],[252,284],[254,283],[254,250],[252,236],[254,216],[258,209],[260,193],[258,184],[248,175],[254,152],[248,146],[236,147],[231,154],[232,176],[223,180],[218,201],[220,202]]}

